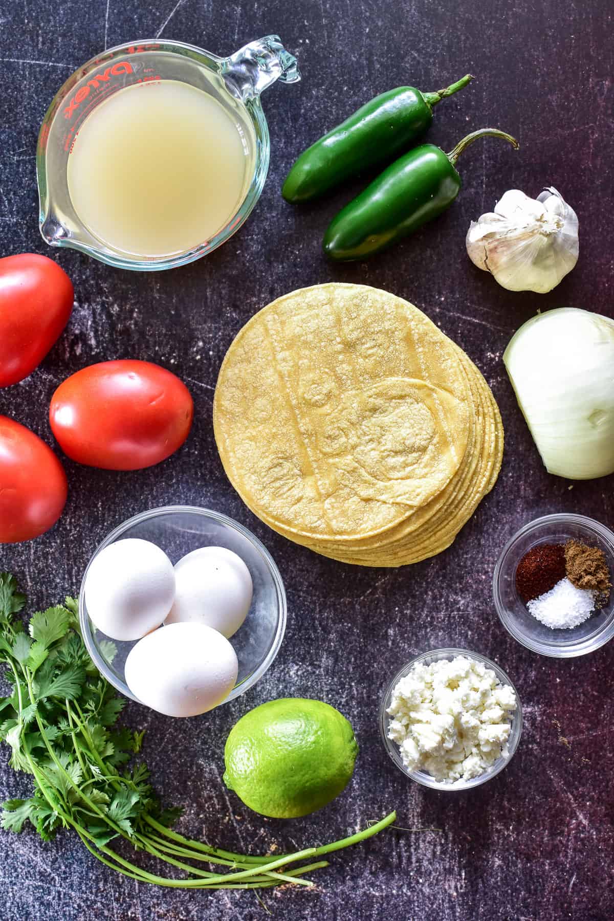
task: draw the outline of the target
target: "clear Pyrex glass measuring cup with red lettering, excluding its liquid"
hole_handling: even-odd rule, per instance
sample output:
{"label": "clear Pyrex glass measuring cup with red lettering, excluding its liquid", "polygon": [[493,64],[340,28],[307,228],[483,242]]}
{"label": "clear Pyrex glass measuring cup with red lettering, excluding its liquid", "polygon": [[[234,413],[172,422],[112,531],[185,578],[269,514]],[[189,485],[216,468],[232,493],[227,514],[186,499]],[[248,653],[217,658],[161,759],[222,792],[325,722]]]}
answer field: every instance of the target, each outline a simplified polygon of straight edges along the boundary
{"label": "clear Pyrex glass measuring cup with red lettering, excluding its liquid", "polygon": [[[216,249],[241,227],[261,195],[269,169],[270,140],[260,96],[278,79],[295,83],[300,73],[295,57],[277,35],[252,41],[226,58],[178,41],[132,42],[92,58],[66,80],[41,125],[36,166],[42,238],[50,246],[71,247],[101,262],[142,272],[184,265]],[[236,213],[213,237],[188,251],[134,255],[99,239],[77,215],[68,189],[68,159],[79,129],[100,103],[125,87],[159,80],[190,84],[219,102],[249,148],[250,168]]]}

